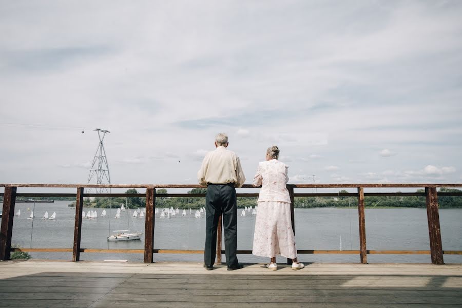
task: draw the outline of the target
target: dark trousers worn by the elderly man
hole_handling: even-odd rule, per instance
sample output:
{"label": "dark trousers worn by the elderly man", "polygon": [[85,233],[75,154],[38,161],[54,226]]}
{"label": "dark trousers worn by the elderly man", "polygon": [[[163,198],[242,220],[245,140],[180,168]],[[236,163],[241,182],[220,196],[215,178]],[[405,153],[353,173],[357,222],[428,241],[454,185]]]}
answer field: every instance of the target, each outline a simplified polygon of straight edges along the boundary
{"label": "dark trousers worn by the elderly man", "polygon": [[226,264],[238,264],[237,249],[237,204],[234,183],[208,184],[205,194],[205,249],[204,264],[213,265],[217,251],[218,219],[223,212]]}

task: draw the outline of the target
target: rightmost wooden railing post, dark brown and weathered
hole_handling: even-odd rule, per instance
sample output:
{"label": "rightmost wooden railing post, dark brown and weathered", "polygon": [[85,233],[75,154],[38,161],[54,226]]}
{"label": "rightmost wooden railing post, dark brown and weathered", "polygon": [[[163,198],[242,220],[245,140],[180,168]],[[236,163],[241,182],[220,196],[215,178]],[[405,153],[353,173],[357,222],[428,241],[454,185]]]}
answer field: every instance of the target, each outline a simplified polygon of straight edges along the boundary
{"label": "rightmost wooden railing post, dark brown and weathered", "polygon": [[425,199],[427,203],[428,233],[430,236],[430,255],[432,263],[444,264],[436,187],[425,187]]}

